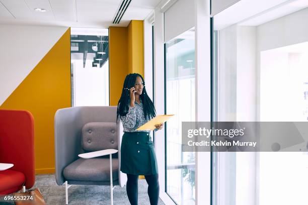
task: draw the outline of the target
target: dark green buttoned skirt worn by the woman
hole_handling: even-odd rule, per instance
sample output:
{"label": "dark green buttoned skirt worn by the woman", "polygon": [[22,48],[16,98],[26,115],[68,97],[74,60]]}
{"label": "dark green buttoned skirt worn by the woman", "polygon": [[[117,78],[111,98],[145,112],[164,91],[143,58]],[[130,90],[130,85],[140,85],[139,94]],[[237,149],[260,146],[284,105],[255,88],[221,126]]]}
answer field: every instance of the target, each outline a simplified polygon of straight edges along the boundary
{"label": "dark green buttoned skirt worn by the woman", "polygon": [[158,174],[154,145],[148,132],[124,133],[120,170],[134,175]]}

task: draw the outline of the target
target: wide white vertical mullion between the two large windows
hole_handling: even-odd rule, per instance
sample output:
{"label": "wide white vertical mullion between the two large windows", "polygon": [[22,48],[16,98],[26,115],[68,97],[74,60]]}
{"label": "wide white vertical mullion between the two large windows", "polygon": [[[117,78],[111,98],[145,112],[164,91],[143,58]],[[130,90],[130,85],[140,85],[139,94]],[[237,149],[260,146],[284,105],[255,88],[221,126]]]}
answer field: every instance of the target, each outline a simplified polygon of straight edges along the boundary
{"label": "wide white vertical mullion between the two large windows", "polygon": [[[195,0],[196,121],[210,121],[210,1]],[[196,204],[210,205],[211,153],[196,152]]]}

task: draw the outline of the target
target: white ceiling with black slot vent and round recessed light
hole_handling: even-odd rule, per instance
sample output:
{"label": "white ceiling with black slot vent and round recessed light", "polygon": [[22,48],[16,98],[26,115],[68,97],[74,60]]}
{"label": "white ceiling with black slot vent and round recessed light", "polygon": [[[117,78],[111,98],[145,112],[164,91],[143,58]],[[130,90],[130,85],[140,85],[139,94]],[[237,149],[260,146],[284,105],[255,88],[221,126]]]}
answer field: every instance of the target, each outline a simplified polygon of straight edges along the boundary
{"label": "white ceiling with black slot vent and round recessed light", "polygon": [[[132,0],[119,24],[112,20],[122,0],[0,0],[0,24],[55,25],[66,27],[126,27],[144,20],[161,0]],[[35,8],[47,12],[36,12]]]}

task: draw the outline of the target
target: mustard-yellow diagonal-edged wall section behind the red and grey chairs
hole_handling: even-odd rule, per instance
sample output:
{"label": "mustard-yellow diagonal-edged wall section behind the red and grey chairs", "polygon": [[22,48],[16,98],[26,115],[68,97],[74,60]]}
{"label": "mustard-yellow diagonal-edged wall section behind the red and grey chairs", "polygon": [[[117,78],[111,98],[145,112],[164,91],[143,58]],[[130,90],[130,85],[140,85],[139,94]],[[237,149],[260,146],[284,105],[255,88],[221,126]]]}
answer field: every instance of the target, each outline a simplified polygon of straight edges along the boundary
{"label": "mustard-yellow diagonal-edged wall section behind the red and grey chairs", "polygon": [[36,173],[54,173],[54,114],[70,106],[68,29],[0,107],[32,113]]}

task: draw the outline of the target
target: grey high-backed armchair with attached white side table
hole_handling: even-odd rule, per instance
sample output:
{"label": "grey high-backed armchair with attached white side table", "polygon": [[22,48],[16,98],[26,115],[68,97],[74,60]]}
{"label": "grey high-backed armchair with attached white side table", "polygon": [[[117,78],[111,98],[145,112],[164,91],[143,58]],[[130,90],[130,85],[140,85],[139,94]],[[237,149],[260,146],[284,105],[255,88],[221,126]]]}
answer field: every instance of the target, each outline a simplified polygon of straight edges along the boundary
{"label": "grey high-backed armchair with attached white side table", "polygon": [[111,185],[111,203],[113,185],[125,185],[126,175],[120,171],[121,155],[116,153],[120,151],[123,132],[122,126],[116,124],[116,112],[117,107],[107,106],[73,107],[56,112],[56,182],[65,184],[66,204],[71,184]]}

